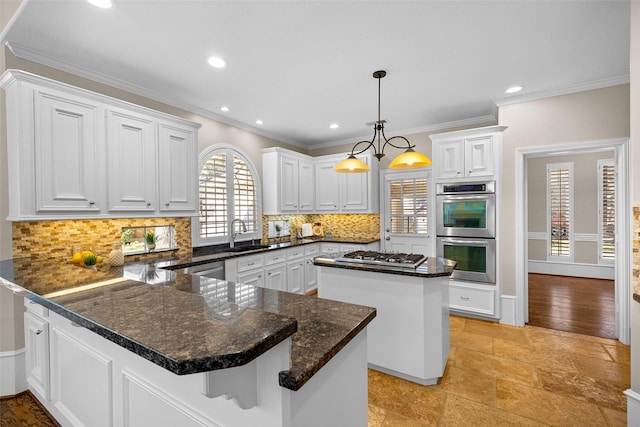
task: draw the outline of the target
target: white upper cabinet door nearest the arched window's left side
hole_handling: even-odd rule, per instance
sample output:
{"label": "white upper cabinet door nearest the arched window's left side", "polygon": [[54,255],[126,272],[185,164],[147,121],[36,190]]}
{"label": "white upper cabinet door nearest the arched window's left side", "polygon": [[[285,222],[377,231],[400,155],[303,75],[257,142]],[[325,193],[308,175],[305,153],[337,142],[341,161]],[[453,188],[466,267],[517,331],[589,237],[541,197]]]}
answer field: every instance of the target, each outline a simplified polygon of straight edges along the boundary
{"label": "white upper cabinet door nearest the arched window's left side", "polygon": [[160,212],[195,212],[198,206],[198,143],[192,128],[160,123]]}

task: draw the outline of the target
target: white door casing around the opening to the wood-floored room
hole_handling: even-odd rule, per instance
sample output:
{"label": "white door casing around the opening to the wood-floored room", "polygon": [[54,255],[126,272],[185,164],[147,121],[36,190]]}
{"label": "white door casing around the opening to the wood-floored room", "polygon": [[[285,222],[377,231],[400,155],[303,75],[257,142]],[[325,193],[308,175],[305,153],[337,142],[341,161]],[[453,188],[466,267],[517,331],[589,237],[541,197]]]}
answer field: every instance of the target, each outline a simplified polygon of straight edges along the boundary
{"label": "white door casing around the opening to the wood-floored room", "polygon": [[614,262],[615,336],[623,343],[630,341],[630,194],[628,182],[629,140],[612,139],[518,149],[516,152],[516,324],[529,320],[529,219],[527,163],[535,157],[613,150],[617,171],[616,239]]}

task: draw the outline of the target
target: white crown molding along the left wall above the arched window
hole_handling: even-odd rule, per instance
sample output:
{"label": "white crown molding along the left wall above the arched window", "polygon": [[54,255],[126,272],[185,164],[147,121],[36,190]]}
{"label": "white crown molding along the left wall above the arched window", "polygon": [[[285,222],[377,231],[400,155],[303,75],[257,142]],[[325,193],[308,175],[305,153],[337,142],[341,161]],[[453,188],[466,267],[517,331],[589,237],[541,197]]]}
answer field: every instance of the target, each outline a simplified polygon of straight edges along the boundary
{"label": "white crown molding along the left wall above the arched window", "polygon": [[76,65],[72,65],[68,62],[61,61],[58,58],[54,58],[50,55],[45,55],[42,52],[27,48],[17,43],[7,42],[5,44],[9,48],[11,53],[13,53],[13,55],[15,55],[18,58],[26,59],[28,61],[33,61],[38,64],[45,65],[47,67],[55,68],[57,70],[76,75],[78,77],[83,77],[97,83],[102,83],[107,86],[114,87],[116,89],[130,92],[134,95],[143,96],[145,98],[149,98],[154,101],[162,102],[163,104],[180,108],[190,113],[199,114],[208,119],[215,120],[217,122],[222,122],[227,125],[234,126],[257,135],[264,136],[265,138],[270,138],[275,141],[283,142],[285,144],[293,145],[296,147],[301,147],[305,149],[307,148],[305,144],[302,144],[299,141],[294,141],[292,139],[284,138],[282,136],[275,135],[270,132],[265,132],[263,129],[249,126],[246,123],[242,123],[237,120],[230,119],[229,117],[221,116],[210,110],[198,107],[197,105],[194,105],[188,102],[176,101],[175,99],[168,98],[158,92],[150,91],[140,86],[128,83],[125,80],[116,79],[106,74],[97,73],[95,71],[89,70],[84,67],[78,67]]}

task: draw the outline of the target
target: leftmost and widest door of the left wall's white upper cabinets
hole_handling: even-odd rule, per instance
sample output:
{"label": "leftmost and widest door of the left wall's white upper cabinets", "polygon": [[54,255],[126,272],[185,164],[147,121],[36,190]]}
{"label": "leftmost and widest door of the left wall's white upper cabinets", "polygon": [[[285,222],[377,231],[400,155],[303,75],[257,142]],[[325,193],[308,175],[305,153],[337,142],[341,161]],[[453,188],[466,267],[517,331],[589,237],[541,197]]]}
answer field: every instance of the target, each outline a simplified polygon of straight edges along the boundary
{"label": "leftmost and widest door of the left wall's white upper cabinets", "polygon": [[100,212],[101,112],[97,104],[81,98],[56,91],[35,92],[38,212]]}

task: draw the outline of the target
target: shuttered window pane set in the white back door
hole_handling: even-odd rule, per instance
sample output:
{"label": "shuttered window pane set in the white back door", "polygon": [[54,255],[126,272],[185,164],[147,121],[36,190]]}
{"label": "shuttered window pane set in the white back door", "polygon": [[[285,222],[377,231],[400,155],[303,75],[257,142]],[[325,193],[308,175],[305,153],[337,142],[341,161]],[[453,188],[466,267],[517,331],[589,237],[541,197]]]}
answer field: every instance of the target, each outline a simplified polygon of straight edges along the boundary
{"label": "shuttered window pane set in the white back door", "polygon": [[389,181],[391,233],[427,234],[427,180],[425,178]]}

